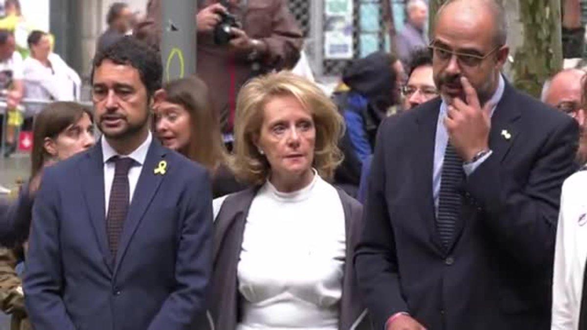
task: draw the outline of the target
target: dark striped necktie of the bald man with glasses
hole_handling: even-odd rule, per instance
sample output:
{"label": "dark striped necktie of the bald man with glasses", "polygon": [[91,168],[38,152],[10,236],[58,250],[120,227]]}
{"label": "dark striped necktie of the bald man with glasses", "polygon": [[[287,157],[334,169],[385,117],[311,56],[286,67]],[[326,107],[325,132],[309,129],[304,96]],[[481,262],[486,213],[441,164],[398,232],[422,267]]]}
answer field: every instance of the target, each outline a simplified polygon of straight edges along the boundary
{"label": "dark striped necktie of the bald man with glasses", "polygon": [[440,194],[438,196],[438,214],[436,228],[440,241],[448,248],[454,238],[454,231],[461,213],[460,186],[464,180],[463,159],[454,147],[448,143],[444,153],[443,169],[440,177]]}

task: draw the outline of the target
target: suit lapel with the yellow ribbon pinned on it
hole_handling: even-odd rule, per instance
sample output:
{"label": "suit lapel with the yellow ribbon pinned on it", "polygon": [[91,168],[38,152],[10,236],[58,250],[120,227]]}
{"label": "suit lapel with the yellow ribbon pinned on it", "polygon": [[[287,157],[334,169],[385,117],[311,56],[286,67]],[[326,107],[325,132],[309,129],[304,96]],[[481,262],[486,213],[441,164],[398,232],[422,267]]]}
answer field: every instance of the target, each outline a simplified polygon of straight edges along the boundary
{"label": "suit lapel with the yellow ribbon pinned on it", "polygon": [[[124,253],[129,247],[137,226],[143,219],[147,207],[151,204],[161,181],[165,177],[162,173],[154,173],[154,170],[157,169],[159,162],[165,159],[166,153],[167,150],[157,140],[153,139],[149,151],[147,151],[147,157],[143,164],[139,181],[134,189],[134,195],[129,206],[129,214],[124,221],[124,228],[120,236],[120,245],[116,255],[114,274],[116,274],[119,268],[120,261],[123,259]],[[173,164],[167,163],[166,170],[173,170]]]}

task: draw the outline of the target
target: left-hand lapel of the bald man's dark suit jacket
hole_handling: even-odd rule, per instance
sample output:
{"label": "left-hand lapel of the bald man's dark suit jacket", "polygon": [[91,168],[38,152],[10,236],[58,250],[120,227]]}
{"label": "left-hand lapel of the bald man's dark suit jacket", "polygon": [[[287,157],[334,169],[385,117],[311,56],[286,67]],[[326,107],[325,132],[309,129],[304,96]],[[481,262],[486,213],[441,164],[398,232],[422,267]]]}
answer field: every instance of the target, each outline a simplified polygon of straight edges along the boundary
{"label": "left-hand lapel of the bald man's dark suit jacket", "polygon": [[416,179],[419,180],[418,196],[421,196],[421,204],[418,211],[421,217],[426,221],[429,229],[430,243],[432,243],[439,252],[443,251],[443,245],[436,234],[436,212],[434,211],[434,194],[433,170],[434,170],[434,147],[436,144],[436,128],[438,123],[438,114],[440,113],[440,98],[433,102],[426,103],[416,116],[418,125],[417,145],[416,145]]}

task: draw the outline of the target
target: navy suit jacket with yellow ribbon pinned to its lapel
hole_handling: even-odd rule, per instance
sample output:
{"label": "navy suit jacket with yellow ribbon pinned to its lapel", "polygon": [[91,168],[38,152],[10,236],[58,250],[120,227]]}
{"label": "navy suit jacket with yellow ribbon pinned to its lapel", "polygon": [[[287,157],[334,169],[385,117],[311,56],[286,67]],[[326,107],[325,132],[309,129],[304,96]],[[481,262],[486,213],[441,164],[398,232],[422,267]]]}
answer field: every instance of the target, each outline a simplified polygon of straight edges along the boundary
{"label": "navy suit jacket with yellow ribbon pinned to its lapel", "polygon": [[[167,162],[165,174],[156,174]],[[207,171],[153,140],[112,264],[100,143],[43,173],[24,281],[39,330],[196,329],[211,272]]]}

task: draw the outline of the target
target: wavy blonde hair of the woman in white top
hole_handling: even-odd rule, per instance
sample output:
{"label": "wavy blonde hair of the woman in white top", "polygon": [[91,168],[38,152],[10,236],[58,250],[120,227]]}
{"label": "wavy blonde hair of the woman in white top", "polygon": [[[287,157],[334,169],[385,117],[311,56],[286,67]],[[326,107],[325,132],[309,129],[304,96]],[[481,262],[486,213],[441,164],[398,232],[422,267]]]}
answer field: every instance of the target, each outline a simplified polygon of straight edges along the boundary
{"label": "wavy blonde hair of the woman in white top", "polygon": [[271,164],[259,153],[254,137],[260,134],[266,103],[281,96],[294,96],[311,113],[316,127],[312,165],[323,179],[332,180],[343,159],[338,142],[345,130],[344,120],[318,86],[288,71],[254,78],[239,92],[231,159],[235,175],[239,180],[257,185],[269,176]]}

